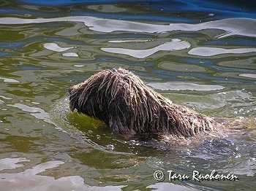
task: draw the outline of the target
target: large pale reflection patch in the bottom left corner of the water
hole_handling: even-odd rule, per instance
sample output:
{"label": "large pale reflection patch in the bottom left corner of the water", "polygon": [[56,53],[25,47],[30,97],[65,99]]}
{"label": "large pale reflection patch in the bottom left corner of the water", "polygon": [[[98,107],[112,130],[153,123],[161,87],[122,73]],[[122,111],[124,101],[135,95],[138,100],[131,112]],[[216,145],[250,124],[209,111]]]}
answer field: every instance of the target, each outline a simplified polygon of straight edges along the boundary
{"label": "large pale reflection patch in the bottom left corner of the water", "polygon": [[[16,164],[20,162],[29,161],[26,158],[5,158],[0,160],[1,170],[14,169],[23,167],[22,164]],[[62,161],[49,161],[47,163],[41,163],[32,168],[26,169],[20,173],[1,173],[0,184],[3,190],[121,190],[124,185],[120,186],[106,186],[106,187],[94,187],[84,183],[84,179],[81,176],[63,176],[59,179],[55,179],[52,176],[42,176],[39,173],[45,172],[50,168],[56,168],[59,165],[64,164]],[[24,168],[24,167],[23,167]]]}

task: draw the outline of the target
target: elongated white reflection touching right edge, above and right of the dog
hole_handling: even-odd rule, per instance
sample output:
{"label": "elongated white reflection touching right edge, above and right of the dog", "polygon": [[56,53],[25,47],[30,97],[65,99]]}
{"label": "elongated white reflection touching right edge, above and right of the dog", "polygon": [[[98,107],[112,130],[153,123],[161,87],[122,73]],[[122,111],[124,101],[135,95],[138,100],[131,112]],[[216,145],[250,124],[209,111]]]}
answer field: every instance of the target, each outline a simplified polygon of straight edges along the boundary
{"label": "elongated white reflection touching right edge, above and right of the dog", "polygon": [[233,48],[225,49],[218,47],[195,47],[189,50],[189,55],[200,55],[200,56],[212,56],[212,55],[222,55],[222,54],[244,54],[256,52],[256,48]]}

